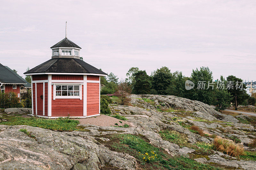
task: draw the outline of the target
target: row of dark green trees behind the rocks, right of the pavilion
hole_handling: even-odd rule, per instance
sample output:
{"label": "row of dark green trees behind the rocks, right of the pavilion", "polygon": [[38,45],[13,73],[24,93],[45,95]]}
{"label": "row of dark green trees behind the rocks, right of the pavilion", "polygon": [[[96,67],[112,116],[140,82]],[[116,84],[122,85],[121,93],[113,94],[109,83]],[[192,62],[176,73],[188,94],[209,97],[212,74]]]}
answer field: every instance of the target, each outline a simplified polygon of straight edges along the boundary
{"label": "row of dark green trees behind the rocks, right of the pavilion", "polygon": [[[246,93],[245,84],[236,88],[236,82],[243,82],[241,78],[230,75],[227,78],[220,76],[220,79],[213,81],[212,71],[208,67],[193,69],[191,76],[182,75],[181,71],[171,72],[168,67],[156,69],[149,76],[145,70],[138,67],[132,67],[126,73],[127,78],[121,80],[130,86],[133,94],[158,94],[173,95],[190,100],[198,100],[208,105],[216,105],[220,110],[225,109],[232,102],[237,109],[238,105],[255,105],[255,98]],[[204,89],[195,87],[191,90],[185,89],[186,80],[195,84],[205,81]],[[101,94],[113,94],[117,91],[118,78],[112,72],[108,74],[107,79],[102,77]],[[208,85],[211,82],[211,85]],[[213,82],[213,83],[212,83]],[[234,84],[230,85],[230,82]],[[229,88],[226,88],[227,84]],[[219,88],[223,85],[224,88]]]}

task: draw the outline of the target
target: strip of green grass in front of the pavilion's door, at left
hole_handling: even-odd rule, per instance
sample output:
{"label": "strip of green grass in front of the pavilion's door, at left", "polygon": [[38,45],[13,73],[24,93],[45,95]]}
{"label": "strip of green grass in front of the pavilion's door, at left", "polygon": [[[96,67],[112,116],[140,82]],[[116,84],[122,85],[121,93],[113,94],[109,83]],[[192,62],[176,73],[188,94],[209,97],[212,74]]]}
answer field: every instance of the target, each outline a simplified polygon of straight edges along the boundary
{"label": "strip of green grass in front of the pavilion's door, at left", "polygon": [[6,122],[0,122],[0,124],[3,125],[28,125],[33,127],[61,131],[77,130],[76,125],[79,124],[79,121],[68,118],[42,119],[36,117],[25,118],[22,116],[5,116],[2,118],[7,120]]}

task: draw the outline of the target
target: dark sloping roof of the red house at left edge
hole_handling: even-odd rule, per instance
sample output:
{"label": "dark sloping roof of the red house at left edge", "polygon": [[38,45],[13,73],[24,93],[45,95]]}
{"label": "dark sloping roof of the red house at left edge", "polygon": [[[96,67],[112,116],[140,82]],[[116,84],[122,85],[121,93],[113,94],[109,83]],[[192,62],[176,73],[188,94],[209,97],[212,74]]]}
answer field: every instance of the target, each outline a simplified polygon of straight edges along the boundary
{"label": "dark sloping roof of the red house at left edge", "polygon": [[20,77],[12,69],[2,65],[1,63],[0,63],[0,82],[3,84],[5,83],[23,84],[25,87],[31,87],[31,84],[29,84],[24,78]]}

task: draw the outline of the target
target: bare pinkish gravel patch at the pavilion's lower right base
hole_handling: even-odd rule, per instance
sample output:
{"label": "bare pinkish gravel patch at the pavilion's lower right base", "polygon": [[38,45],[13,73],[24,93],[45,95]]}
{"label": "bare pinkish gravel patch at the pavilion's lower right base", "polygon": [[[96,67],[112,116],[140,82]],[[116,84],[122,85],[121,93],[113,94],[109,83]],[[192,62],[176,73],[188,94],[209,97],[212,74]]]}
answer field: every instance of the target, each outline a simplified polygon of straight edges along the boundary
{"label": "bare pinkish gravel patch at the pavilion's lower right base", "polygon": [[[115,123],[117,123],[118,126],[124,126],[124,124],[126,123],[129,126],[133,126],[132,123],[130,123],[130,122],[122,121],[122,120],[119,120],[119,119],[116,119],[114,117],[107,116],[107,115],[81,118],[81,119],[76,119],[76,120],[78,120],[80,122],[79,125],[81,125],[81,124],[92,124],[92,125],[97,125],[97,126],[116,126]],[[121,121],[122,123],[119,122],[119,121]]]}

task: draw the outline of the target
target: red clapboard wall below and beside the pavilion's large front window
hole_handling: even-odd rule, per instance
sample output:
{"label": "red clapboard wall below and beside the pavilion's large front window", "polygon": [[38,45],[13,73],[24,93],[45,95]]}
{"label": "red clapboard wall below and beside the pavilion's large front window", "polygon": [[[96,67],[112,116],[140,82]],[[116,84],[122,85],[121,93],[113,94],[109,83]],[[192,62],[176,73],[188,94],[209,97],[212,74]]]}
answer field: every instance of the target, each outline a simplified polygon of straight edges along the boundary
{"label": "red clapboard wall below and beside the pavilion's large front window", "polygon": [[[84,89],[84,85],[82,85]],[[84,112],[84,92],[82,91],[82,100],[80,99],[55,99],[53,100],[52,85],[52,116],[83,116]]]}

